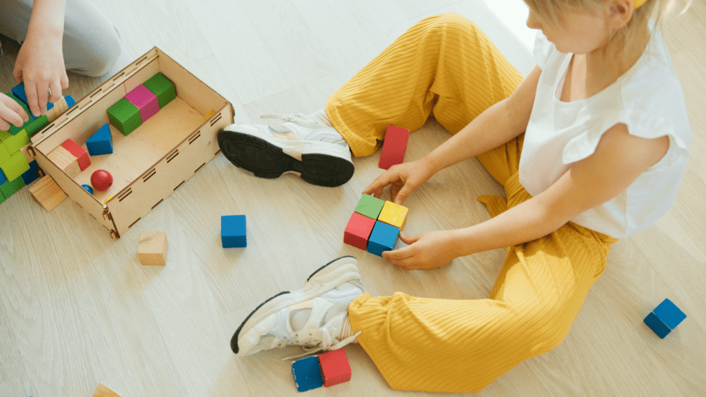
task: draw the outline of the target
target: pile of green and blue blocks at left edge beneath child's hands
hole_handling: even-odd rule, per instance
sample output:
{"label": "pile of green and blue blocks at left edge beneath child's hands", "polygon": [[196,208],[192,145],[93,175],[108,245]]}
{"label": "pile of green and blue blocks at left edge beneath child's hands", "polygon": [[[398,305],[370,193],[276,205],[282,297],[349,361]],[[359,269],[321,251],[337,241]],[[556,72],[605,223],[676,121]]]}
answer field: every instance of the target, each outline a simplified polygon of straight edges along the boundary
{"label": "pile of green and blue blocks at left edge beneath child's hands", "polygon": [[[0,203],[40,177],[40,167],[28,150],[30,137],[56,118],[50,119],[51,114],[32,116],[27,106],[24,83],[16,85],[7,95],[24,109],[28,114],[28,121],[23,126],[11,125],[8,131],[0,131]],[[68,95],[60,101],[66,104],[65,108],[62,105],[64,109],[76,103]],[[53,107],[51,102],[47,104],[47,110],[52,110]]]}

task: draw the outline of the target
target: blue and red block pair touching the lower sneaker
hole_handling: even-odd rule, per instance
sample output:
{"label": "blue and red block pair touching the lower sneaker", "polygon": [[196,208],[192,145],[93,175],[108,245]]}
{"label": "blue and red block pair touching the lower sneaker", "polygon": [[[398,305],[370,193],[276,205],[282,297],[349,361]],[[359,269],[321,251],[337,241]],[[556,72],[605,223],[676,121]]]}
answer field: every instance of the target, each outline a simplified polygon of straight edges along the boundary
{"label": "blue and red block pair touching the lower sneaker", "polygon": [[351,366],[343,349],[324,352],[292,362],[297,391],[330,387],[351,380]]}

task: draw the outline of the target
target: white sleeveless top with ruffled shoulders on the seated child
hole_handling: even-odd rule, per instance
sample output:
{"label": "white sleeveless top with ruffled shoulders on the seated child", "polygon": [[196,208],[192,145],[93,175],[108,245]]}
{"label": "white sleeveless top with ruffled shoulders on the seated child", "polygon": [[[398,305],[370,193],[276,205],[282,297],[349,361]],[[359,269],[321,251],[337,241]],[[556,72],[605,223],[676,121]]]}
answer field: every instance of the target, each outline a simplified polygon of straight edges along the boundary
{"label": "white sleeveless top with ruffled shoulders on the seated child", "polygon": [[[573,162],[591,155],[605,131],[625,123],[642,138],[669,136],[669,150],[617,197],[571,219],[621,238],[661,218],[674,203],[686,170],[691,131],[683,90],[662,33],[654,30],[642,57],[618,81],[585,100],[561,102],[572,54],[558,52],[542,30],[534,59],[542,69],[520,158],[520,183],[532,196],[554,184]],[[648,52],[652,53],[650,57]]]}

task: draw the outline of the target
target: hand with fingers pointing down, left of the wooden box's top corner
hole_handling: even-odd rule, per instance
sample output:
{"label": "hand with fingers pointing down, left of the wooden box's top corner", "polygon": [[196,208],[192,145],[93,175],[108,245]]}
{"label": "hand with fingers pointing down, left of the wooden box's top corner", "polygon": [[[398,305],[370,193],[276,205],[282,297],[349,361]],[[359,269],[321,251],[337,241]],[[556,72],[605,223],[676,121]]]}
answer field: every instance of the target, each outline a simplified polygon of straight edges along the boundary
{"label": "hand with fingers pointing down, left of the wooden box's top corner", "polygon": [[13,76],[18,83],[24,81],[27,105],[35,117],[47,114],[47,101],[56,102],[68,88],[61,40],[61,35],[30,31],[17,55]]}

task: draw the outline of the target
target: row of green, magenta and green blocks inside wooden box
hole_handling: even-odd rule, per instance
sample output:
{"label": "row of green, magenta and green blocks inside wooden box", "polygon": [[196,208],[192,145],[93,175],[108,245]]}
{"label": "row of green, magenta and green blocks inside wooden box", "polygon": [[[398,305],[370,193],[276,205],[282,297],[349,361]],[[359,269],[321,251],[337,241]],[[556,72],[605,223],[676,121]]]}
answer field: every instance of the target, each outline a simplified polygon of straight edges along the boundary
{"label": "row of green, magenta and green blocks inside wooden box", "polygon": [[108,108],[108,119],[127,136],[177,97],[174,83],[157,73]]}

